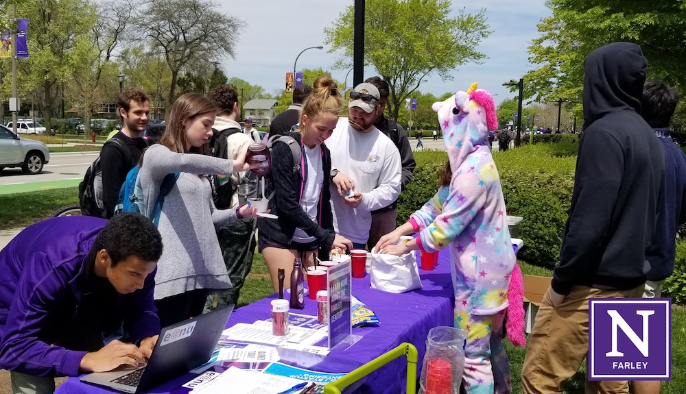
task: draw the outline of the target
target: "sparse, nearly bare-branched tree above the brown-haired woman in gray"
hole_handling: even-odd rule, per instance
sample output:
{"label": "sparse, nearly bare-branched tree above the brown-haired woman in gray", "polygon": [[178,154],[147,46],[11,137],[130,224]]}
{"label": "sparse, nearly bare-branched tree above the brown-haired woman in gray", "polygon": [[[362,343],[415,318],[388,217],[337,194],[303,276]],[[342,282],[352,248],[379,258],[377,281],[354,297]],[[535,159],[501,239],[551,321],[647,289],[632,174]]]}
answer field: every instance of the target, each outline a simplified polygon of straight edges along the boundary
{"label": "sparse, nearly bare-branched tree above the brown-haired woman in gray", "polygon": [[137,25],[153,49],[165,56],[171,71],[167,110],[176,99],[181,71],[228,56],[234,58],[234,42],[245,23],[217,12],[206,0],[151,0]]}

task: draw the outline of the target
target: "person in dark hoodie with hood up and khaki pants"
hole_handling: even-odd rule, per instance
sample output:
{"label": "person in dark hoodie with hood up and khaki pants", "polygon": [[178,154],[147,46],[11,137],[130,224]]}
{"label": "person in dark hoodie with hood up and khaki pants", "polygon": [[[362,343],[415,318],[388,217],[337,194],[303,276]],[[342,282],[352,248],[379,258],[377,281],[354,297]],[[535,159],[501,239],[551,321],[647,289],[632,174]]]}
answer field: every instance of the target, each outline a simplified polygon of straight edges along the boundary
{"label": "person in dark hoodie with hood up and khaki pants", "polygon": [[[665,153],[641,118],[648,62],[615,42],[584,64],[584,134],[560,264],[543,297],[521,372],[524,393],[559,393],[589,348],[589,298],[641,297],[665,177]],[[589,381],[587,393],[628,393]]]}

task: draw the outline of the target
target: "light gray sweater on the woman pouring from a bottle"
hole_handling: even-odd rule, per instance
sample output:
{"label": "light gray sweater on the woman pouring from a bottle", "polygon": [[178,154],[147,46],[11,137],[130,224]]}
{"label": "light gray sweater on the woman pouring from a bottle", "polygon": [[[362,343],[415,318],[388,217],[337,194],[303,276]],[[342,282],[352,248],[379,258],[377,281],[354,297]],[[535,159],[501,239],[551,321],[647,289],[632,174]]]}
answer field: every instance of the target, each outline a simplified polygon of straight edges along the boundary
{"label": "light gray sweater on the woman pouring from a bottle", "polygon": [[155,299],[196,288],[231,288],[216,229],[237,220],[236,211],[217,210],[209,178],[198,174],[233,173],[233,160],[152,145],[140,174],[146,214],[154,208],[164,177],[176,172],[180,175],[165,197],[158,225],[164,251],[157,264]]}

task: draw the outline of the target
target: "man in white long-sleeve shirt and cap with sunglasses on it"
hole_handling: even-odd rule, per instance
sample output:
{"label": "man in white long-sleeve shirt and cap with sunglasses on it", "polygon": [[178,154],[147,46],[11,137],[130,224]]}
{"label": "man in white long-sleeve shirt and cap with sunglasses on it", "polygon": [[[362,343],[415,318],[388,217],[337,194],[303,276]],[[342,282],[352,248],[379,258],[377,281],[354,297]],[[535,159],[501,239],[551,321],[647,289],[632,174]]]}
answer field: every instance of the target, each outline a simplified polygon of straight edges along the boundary
{"label": "man in white long-sleeve shirt and cap with sunglasses on it", "polygon": [[364,249],[372,210],[398,199],[401,158],[393,141],[374,122],[379,117],[379,90],[362,83],[351,91],[348,117],[338,120],[327,139],[331,147],[331,201],[336,234]]}

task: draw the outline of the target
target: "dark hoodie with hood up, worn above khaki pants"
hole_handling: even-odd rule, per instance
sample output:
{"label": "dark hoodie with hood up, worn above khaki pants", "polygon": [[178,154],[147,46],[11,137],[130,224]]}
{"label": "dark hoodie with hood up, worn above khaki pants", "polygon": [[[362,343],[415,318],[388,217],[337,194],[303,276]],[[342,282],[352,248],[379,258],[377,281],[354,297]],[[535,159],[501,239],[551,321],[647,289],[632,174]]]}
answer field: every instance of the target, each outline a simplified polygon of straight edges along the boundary
{"label": "dark hoodie with hood up, worn above khaki pants", "polygon": [[646,282],[665,154],[643,121],[646,58],[638,45],[595,49],[584,64],[584,134],[552,288],[628,290]]}

